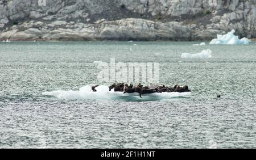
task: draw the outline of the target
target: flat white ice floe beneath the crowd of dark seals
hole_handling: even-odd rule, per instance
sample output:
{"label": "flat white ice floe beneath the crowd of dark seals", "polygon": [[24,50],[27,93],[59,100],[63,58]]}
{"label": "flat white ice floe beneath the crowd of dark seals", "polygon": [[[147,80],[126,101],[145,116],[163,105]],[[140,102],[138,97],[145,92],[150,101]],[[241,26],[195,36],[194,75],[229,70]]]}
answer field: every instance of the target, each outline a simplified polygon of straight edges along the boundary
{"label": "flat white ice floe beneath the crowd of dark seals", "polygon": [[191,92],[162,92],[154,94],[144,94],[142,98],[139,97],[138,93],[126,93],[115,92],[114,90],[109,91],[108,86],[96,87],[97,92],[93,92],[89,85],[81,87],[79,91],[51,91],[43,92],[43,95],[55,96],[58,99],[123,99],[123,100],[161,100],[178,97],[189,97]]}

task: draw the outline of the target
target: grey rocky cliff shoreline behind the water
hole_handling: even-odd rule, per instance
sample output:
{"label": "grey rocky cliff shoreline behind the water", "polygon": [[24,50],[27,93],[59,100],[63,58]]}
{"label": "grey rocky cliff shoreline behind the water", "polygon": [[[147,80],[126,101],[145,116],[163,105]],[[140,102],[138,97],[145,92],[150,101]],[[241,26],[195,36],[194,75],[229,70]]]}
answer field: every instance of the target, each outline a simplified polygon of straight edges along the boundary
{"label": "grey rocky cliff shoreline behind the water", "polygon": [[232,29],[256,37],[256,0],[214,1],[0,0],[0,40],[209,40]]}

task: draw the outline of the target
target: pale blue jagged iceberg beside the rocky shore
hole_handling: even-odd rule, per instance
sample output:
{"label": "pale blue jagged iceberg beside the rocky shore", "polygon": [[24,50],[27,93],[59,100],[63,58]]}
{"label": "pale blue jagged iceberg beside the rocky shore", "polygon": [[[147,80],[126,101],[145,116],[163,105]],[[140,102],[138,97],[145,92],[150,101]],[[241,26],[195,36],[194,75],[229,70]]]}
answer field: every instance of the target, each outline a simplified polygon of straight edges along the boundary
{"label": "pale blue jagged iceberg beside the rocky shore", "polygon": [[217,35],[217,39],[210,41],[210,44],[249,44],[250,40],[246,37],[238,39],[238,36],[234,35],[235,30],[232,30],[226,35]]}

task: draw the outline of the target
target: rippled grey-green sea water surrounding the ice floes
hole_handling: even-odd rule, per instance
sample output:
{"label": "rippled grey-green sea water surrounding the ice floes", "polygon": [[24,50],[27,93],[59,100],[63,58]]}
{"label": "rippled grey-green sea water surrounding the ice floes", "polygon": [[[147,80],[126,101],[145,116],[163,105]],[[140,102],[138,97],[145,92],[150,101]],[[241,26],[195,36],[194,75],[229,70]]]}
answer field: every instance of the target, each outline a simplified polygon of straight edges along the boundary
{"label": "rippled grey-green sea water surrounding the ice floes", "polygon": [[[195,43],[0,43],[0,148],[256,148],[256,44]],[[181,58],[203,49],[212,58]],[[42,94],[97,84],[93,62],[110,58],[159,62],[160,84],[188,85],[192,94],[146,101]]]}

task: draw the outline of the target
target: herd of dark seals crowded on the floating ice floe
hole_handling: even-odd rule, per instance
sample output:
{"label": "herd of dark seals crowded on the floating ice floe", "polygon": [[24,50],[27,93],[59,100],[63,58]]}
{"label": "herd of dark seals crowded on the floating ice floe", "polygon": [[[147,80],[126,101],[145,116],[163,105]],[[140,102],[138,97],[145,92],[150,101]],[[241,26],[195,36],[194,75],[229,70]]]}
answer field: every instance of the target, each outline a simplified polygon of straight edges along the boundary
{"label": "herd of dark seals crowded on the floating ice floe", "polygon": [[[92,86],[92,90],[97,91],[96,87],[98,87],[98,85]],[[115,92],[123,92],[123,94],[138,92],[141,98],[141,95],[143,94],[152,94],[155,92],[191,92],[191,90],[188,89],[188,86],[180,87],[179,85],[175,85],[174,87],[168,87],[165,85],[158,86],[151,84],[150,86],[143,87],[141,83],[137,86],[133,86],[132,83],[130,85],[125,83],[113,83],[113,85],[109,86],[109,91],[111,90],[114,90]]]}

